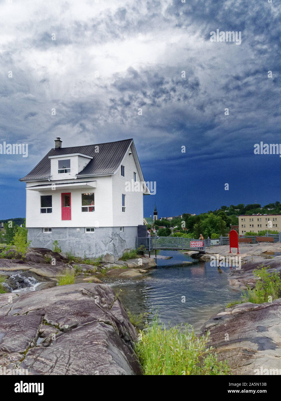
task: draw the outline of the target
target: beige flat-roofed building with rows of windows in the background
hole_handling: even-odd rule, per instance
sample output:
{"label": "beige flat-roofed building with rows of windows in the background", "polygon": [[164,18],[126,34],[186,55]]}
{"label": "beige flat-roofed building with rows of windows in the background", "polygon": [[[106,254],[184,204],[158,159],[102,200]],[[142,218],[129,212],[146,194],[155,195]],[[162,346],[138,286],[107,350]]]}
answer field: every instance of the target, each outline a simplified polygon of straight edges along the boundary
{"label": "beige flat-roofed building with rows of windows in the background", "polygon": [[263,230],[281,231],[281,215],[239,216],[239,235]]}

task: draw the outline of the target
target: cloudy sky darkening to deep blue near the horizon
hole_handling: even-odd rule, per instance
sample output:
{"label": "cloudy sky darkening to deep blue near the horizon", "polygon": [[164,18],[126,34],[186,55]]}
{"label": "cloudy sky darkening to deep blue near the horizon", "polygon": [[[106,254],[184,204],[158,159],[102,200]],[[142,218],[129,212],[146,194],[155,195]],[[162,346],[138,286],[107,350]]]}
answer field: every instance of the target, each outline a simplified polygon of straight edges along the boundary
{"label": "cloudy sky darkening to deep blue near the horizon", "polygon": [[[133,138],[156,181],[144,216],[155,201],[159,217],[281,201],[279,155],[254,154],[281,143],[278,2],[28,4],[0,6],[0,143],[28,143],[27,158],[0,154],[0,219],[25,215],[18,178],[57,136],[64,147]],[[211,42],[216,29],[241,31],[241,45]]]}

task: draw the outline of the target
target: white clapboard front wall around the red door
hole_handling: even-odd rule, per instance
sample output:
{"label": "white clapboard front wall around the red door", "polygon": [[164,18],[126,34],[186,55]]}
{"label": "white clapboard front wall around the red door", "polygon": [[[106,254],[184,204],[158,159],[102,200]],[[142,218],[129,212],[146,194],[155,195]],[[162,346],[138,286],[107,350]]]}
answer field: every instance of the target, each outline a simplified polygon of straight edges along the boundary
{"label": "white clapboard front wall around the red door", "polygon": [[[60,174],[61,175],[61,174]],[[26,227],[113,227],[112,177],[95,177],[96,188],[26,190]],[[32,182],[28,186],[44,184]],[[71,220],[61,220],[61,193],[71,192]],[[94,192],[95,211],[82,212],[82,193]],[[52,213],[40,213],[40,195],[52,195]]]}

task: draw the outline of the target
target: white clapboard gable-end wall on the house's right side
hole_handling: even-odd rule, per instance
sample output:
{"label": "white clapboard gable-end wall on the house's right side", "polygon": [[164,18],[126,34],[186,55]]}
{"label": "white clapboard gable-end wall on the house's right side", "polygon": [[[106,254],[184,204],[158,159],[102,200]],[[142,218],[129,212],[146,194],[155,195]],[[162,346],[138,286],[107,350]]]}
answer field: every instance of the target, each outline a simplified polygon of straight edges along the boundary
{"label": "white clapboard gable-end wall on the house's right side", "polygon": [[[121,176],[121,168],[112,176],[113,196],[113,226],[137,226],[144,224],[143,192],[126,192],[126,182],[133,180],[133,173],[136,173],[136,180],[140,182],[133,155],[129,155],[129,149],[125,155],[122,165],[125,167],[125,177]],[[122,194],[125,194],[125,212],[122,212]]]}

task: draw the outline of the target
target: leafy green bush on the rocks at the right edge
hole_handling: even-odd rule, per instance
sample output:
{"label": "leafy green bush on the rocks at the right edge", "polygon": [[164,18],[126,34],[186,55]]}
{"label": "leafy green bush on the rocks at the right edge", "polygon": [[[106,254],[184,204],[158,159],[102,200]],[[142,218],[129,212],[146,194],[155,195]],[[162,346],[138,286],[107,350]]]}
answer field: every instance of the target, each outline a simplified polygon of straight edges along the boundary
{"label": "leafy green bush on the rocks at the right edge", "polygon": [[[259,268],[260,267],[260,268]],[[243,299],[245,302],[253,302],[253,304],[262,304],[263,302],[271,302],[280,297],[281,294],[281,278],[279,273],[269,273],[267,269],[270,266],[261,265],[253,270],[255,277],[259,278],[255,288],[248,288]]]}

